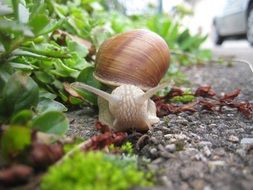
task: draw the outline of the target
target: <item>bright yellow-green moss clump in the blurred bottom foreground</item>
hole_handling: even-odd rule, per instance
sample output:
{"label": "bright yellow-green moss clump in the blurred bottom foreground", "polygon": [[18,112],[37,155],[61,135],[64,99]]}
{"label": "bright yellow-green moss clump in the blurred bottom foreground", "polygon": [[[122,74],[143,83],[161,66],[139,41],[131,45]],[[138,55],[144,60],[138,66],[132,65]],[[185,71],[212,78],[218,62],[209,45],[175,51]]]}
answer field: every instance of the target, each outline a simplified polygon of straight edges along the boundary
{"label": "bright yellow-green moss clump in the blurred bottom foreground", "polygon": [[138,171],[135,159],[101,152],[77,152],[42,178],[42,190],[125,190],[151,186],[150,174]]}

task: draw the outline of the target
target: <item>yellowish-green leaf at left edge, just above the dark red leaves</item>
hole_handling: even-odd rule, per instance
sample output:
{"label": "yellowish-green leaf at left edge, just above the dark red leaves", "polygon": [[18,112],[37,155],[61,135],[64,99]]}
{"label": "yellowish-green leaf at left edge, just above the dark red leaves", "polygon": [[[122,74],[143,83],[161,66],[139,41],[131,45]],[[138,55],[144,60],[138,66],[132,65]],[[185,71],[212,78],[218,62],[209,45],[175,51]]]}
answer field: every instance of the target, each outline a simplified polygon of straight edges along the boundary
{"label": "yellowish-green leaf at left edge, just above the dark red leaves", "polygon": [[25,127],[10,126],[1,139],[1,152],[5,158],[18,155],[31,144],[31,130]]}

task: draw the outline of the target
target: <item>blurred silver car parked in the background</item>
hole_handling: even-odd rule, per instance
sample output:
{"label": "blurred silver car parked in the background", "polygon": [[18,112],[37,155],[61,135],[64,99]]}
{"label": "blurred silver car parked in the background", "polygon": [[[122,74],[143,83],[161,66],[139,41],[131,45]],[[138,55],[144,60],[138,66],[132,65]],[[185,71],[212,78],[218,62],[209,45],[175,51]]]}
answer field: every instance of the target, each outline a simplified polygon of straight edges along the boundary
{"label": "blurred silver car parked in the background", "polygon": [[229,38],[244,38],[253,46],[253,0],[226,0],[213,20],[212,38],[216,45]]}

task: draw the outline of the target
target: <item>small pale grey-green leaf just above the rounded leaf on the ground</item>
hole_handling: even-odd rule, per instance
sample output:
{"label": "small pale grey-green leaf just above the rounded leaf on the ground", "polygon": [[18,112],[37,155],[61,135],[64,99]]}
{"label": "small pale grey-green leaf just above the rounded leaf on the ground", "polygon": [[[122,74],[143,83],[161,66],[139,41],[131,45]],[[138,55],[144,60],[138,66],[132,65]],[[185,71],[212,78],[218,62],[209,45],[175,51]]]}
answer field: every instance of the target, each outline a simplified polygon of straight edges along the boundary
{"label": "small pale grey-green leaf just above the rounded leaf on the ground", "polygon": [[36,110],[39,114],[42,114],[49,111],[64,112],[67,111],[68,109],[60,102],[51,100],[49,98],[41,98]]}

